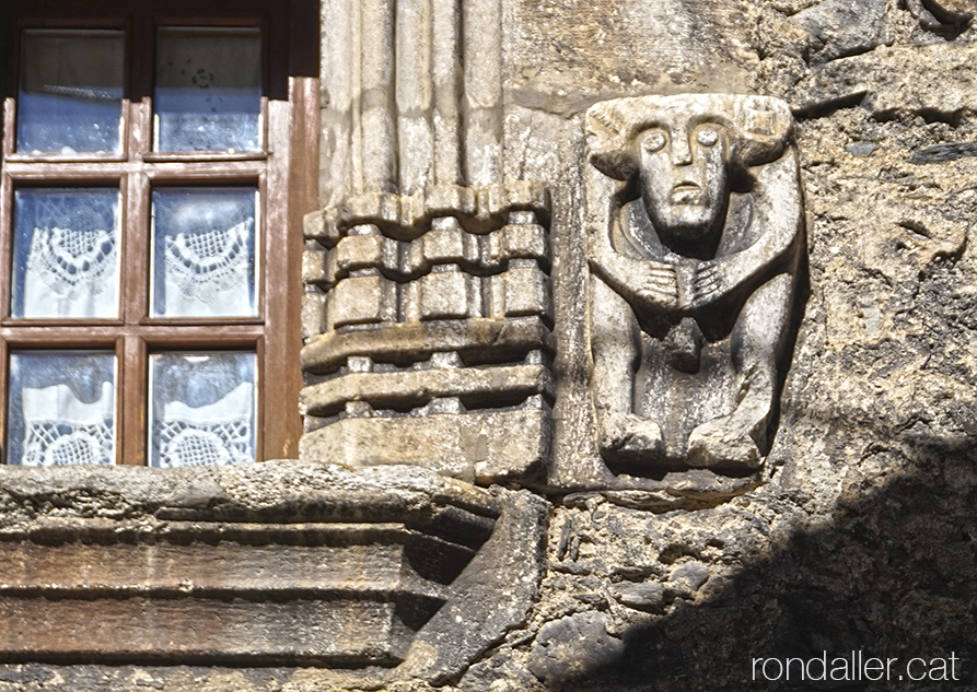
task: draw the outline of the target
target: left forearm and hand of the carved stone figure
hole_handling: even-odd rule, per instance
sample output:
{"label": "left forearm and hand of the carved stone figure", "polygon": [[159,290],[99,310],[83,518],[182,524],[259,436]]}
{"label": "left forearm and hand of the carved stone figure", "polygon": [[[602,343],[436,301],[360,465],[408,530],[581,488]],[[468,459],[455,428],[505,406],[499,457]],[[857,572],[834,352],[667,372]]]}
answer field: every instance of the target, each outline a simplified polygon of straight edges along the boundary
{"label": "left forearm and hand of the carved stone figure", "polygon": [[588,262],[591,270],[642,314],[678,307],[675,268],[651,259],[636,259],[615,250],[607,228],[588,228]]}

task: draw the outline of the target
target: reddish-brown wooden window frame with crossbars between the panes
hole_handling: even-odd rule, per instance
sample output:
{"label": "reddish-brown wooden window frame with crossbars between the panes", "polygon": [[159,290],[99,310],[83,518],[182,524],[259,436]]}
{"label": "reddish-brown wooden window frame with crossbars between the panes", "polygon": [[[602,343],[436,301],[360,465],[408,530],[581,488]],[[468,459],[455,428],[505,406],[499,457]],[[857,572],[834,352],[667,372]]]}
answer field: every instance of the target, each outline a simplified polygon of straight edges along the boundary
{"label": "reddish-brown wooden window frame with crossbars between the panes", "polygon": [[[40,8],[38,9],[38,5]],[[263,36],[261,151],[154,152],[153,79],[156,28],[256,26]],[[126,32],[121,154],[24,154],[15,151],[20,36],[24,28],[115,28]],[[257,356],[258,460],[294,457],[301,435],[302,216],[316,203],[318,149],[318,5],[315,0],[15,0],[0,10],[9,75],[0,148],[0,439],[7,439],[12,351],[114,351],[116,464],[147,464],[152,422],[149,356],[163,351],[254,352]],[[2,44],[0,44],[2,45]],[[256,186],[260,248],[257,317],[150,317],[150,212],[154,188]],[[118,319],[25,319],[10,316],[13,197],[20,187],[118,185],[120,275]],[[5,462],[5,445],[4,445]]]}

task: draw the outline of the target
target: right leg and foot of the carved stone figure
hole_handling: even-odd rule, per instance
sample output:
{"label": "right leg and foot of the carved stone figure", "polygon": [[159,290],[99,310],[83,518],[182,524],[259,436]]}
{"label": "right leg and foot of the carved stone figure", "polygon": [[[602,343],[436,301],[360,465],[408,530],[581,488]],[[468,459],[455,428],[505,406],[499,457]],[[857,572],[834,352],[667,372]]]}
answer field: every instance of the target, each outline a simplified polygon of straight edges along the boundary
{"label": "right leg and foot of the carved stone figure", "polygon": [[793,303],[794,278],[778,274],[747,298],[730,336],[736,374],[733,412],[697,426],[688,438],[688,465],[755,469],[777,394],[777,360]]}

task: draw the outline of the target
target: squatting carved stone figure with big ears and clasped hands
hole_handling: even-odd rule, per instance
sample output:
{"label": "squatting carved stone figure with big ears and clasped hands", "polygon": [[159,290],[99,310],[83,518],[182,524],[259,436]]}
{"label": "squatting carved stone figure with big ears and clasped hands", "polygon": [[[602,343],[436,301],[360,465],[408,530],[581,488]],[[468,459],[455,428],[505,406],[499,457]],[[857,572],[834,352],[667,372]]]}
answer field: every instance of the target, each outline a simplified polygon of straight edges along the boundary
{"label": "squatting carved stone figure with big ears and clasped hands", "polygon": [[593,396],[613,471],[761,465],[804,250],[792,124],[761,96],[589,110]]}

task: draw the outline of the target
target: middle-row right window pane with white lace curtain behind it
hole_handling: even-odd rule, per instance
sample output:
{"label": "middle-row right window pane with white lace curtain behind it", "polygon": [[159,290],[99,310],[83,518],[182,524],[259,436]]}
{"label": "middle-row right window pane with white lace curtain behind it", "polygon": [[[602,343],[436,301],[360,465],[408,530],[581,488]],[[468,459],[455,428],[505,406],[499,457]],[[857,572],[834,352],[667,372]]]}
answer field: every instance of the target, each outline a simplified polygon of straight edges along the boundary
{"label": "middle-row right window pane with white lace curtain behind it", "polygon": [[254,188],[153,191],[154,317],[253,317]]}

